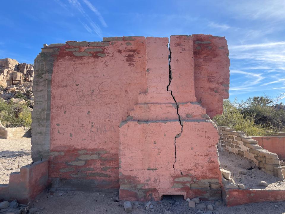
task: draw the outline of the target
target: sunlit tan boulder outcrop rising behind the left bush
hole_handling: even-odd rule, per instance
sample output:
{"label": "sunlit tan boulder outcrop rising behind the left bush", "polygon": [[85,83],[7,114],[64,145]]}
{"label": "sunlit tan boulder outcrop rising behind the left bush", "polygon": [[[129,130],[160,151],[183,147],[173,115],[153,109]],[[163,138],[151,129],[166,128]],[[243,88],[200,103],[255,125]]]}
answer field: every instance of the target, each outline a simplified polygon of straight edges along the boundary
{"label": "sunlit tan boulder outcrop rising behind the left bush", "polygon": [[33,64],[19,63],[15,59],[0,59],[0,99],[8,103],[29,103],[34,106],[32,91],[34,78]]}

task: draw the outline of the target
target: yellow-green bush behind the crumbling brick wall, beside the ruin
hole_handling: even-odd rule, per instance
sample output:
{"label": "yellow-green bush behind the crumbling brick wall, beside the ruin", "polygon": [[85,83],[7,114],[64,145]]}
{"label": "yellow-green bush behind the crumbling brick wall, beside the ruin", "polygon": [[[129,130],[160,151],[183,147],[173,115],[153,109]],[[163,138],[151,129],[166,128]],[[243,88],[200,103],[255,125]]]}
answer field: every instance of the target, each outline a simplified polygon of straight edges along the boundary
{"label": "yellow-green bush behind the crumbling brick wall, beside the ruin", "polygon": [[255,124],[254,114],[241,114],[240,110],[236,107],[236,100],[224,100],[223,114],[217,115],[213,118],[219,126],[228,126],[237,131],[243,131],[248,136],[266,136],[266,131],[272,131],[268,125]]}

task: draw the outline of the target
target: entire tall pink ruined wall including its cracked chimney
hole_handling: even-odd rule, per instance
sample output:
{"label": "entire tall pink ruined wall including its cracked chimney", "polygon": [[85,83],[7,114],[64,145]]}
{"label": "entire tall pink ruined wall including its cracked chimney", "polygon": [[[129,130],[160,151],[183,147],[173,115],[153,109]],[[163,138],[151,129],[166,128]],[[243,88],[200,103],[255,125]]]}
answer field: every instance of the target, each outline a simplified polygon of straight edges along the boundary
{"label": "entire tall pink ruined wall including its cracked chimney", "polygon": [[[121,186],[120,198],[140,200],[175,191],[221,197],[219,136],[209,116],[228,98],[226,40],[172,36],[170,51],[168,38],[153,37],[42,48],[34,65],[32,158],[49,160],[54,187]],[[132,172],[150,180],[134,180]]]}

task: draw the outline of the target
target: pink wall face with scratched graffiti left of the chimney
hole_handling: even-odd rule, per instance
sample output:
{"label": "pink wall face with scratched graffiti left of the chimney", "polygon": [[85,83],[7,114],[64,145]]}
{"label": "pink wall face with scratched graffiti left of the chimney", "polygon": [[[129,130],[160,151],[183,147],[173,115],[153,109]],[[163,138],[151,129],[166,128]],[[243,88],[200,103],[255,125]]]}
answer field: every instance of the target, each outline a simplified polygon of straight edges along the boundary
{"label": "pink wall face with scratched graffiti left of the chimney", "polygon": [[[118,127],[146,90],[146,40],[134,38],[61,47],[51,86],[51,180],[96,179],[97,188],[119,187]],[[74,56],[69,48],[89,48],[93,55]]]}

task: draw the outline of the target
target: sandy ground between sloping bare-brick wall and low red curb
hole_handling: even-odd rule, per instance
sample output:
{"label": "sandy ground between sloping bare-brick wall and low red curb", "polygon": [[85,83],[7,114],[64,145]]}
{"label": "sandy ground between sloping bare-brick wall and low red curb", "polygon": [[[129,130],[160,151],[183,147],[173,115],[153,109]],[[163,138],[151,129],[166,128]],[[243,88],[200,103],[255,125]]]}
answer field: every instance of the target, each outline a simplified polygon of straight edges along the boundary
{"label": "sandy ground between sloping bare-brick wall and low red curb", "polygon": [[[237,184],[243,184],[250,189],[285,190],[284,180],[280,180],[278,177],[259,170],[253,161],[248,160],[245,157],[219,151],[219,161],[221,164],[221,169],[224,168],[230,171],[231,178]],[[240,174],[241,171],[243,174]],[[258,186],[260,181],[266,181],[268,183],[268,187],[265,188]]]}

